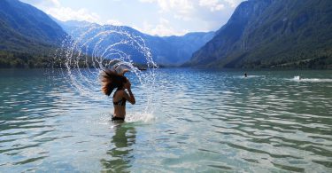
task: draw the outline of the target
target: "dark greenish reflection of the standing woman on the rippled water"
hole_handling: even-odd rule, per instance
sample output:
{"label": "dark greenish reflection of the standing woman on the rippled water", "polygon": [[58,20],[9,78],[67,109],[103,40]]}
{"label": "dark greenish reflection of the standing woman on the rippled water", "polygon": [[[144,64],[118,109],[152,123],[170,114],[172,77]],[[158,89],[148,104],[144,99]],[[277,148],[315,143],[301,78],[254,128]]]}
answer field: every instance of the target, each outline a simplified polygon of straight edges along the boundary
{"label": "dark greenish reflection of the standing woman on the rippled water", "polygon": [[135,160],[131,145],[135,145],[135,127],[130,124],[119,123],[114,126],[115,134],[112,137],[112,149],[107,151],[110,160],[102,159],[104,170],[112,172],[129,172],[131,162]]}

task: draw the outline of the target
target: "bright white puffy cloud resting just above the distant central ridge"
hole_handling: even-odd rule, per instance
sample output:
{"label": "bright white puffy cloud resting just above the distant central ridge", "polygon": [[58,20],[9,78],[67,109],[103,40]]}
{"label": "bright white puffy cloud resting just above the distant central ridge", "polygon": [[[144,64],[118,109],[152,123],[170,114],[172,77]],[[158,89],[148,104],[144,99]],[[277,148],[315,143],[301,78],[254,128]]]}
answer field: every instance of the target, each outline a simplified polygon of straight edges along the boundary
{"label": "bright white puffy cloud resting just above the distant central ridge", "polygon": [[181,31],[175,30],[171,27],[171,24],[168,20],[164,18],[159,19],[159,23],[157,25],[151,25],[148,22],[143,22],[143,28],[139,28],[134,26],[133,28],[150,35],[185,35],[189,32],[189,30],[182,29]]}

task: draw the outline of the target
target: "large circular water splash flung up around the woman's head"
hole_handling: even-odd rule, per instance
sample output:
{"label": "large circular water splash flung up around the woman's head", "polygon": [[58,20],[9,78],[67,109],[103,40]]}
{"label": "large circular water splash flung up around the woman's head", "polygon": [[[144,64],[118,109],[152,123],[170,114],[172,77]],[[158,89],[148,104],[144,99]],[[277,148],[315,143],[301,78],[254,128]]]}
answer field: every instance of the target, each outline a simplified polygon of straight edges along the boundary
{"label": "large circular water splash flung up around the woman's head", "polygon": [[[153,112],[156,63],[141,36],[126,28],[96,26],[77,28],[58,49],[54,65],[75,90],[93,100],[107,99],[101,92],[99,75],[106,68],[126,67],[137,81],[146,106],[146,119]],[[139,63],[139,65],[135,64]],[[140,69],[141,68],[141,69]],[[142,68],[144,71],[142,71]],[[119,69],[119,68],[118,68]],[[141,98],[140,98],[141,99]]]}

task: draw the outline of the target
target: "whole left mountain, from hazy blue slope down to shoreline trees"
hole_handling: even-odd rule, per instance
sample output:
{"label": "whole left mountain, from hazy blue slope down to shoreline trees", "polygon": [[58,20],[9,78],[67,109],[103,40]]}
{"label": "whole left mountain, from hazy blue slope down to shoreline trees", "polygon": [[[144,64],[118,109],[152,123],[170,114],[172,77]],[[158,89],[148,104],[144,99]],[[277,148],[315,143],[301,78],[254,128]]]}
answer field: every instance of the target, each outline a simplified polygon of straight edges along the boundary
{"label": "whole left mountain, from hazy blue slope down to shoreline trees", "polygon": [[0,0],[0,67],[43,67],[66,32],[44,12]]}

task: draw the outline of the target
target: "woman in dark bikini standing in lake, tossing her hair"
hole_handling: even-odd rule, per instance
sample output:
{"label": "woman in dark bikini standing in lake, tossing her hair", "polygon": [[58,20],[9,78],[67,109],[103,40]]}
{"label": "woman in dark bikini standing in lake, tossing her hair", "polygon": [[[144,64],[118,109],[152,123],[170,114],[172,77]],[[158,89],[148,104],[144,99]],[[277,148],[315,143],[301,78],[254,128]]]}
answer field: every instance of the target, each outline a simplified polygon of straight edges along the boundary
{"label": "woman in dark bikini standing in lake, tossing her hair", "polygon": [[[124,121],[126,117],[126,101],[129,101],[132,105],[135,104],[135,97],[131,91],[131,83],[124,76],[124,73],[120,75],[111,69],[106,69],[101,74],[102,91],[105,95],[110,96],[112,90],[115,90],[113,94],[113,106],[114,113],[112,115],[112,121],[120,120]],[[127,89],[127,92],[125,91]]]}

